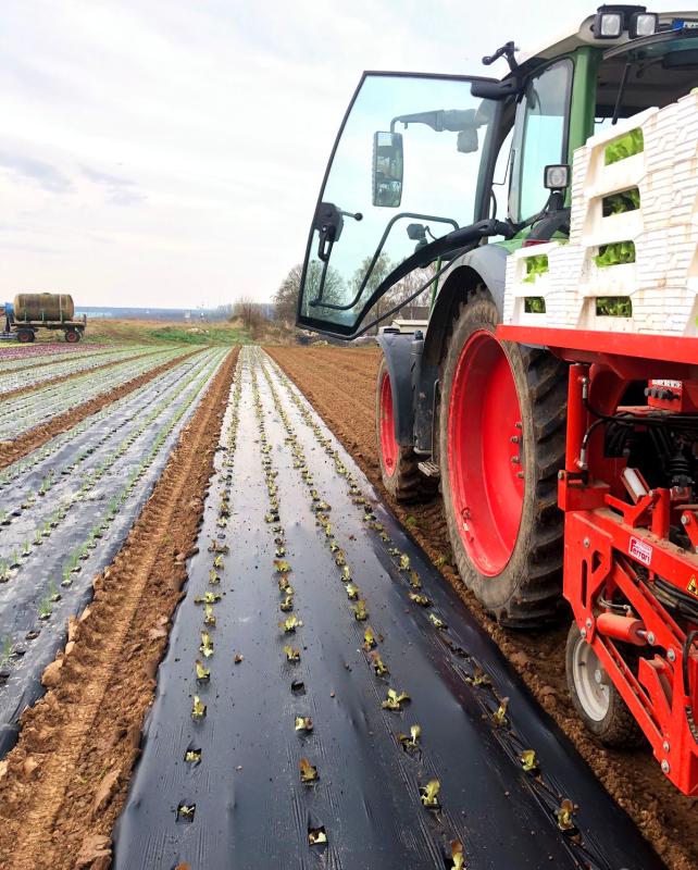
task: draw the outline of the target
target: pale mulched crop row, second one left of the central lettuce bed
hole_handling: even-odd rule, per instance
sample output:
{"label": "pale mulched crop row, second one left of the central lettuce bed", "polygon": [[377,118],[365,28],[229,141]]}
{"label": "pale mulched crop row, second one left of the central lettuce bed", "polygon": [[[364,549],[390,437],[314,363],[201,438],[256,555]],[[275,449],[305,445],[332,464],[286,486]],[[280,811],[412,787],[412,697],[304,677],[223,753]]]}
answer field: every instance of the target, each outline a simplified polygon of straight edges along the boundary
{"label": "pale mulched crop row, second one left of the central lettuce bed", "polygon": [[150,369],[183,356],[186,351],[161,350],[148,357],[119,362],[108,369],[76,375],[68,381],[32,390],[26,396],[0,401],[0,438],[14,438],[50,418],[108,393]]}

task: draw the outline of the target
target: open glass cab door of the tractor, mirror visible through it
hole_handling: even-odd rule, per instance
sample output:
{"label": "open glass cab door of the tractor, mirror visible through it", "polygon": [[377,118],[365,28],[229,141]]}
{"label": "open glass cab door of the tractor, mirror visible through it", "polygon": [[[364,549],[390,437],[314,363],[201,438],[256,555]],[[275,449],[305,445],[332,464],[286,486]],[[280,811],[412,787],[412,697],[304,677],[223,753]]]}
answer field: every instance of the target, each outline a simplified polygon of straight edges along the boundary
{"label": "open glass cab door of the tractor, mirror visible through it", "polygon": [[311,228],[301,325],[350,336],[415,249],[483,216],[497,104],[474,97],[472,82],[364,75]]}

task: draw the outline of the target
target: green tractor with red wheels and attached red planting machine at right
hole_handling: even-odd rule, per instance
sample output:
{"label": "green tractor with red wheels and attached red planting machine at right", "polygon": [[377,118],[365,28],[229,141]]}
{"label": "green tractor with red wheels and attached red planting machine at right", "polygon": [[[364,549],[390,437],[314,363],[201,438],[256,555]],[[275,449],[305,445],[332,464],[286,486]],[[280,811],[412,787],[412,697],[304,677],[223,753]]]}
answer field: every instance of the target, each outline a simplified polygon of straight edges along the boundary
{"label": "green tractor with red wheels and attached red planting machine at right", "polygon": [[[696,794],[698,309],[676,327],[661,293],[678,282],[684,299],[698,254],[685,281],[670,266],[657,277],[651,262],[676,238],[695,247],[698,214],[672,216],[681,196],[670,195],[636,241],[597,239],[587,265],[573,254],[577,236],[595,244],[597,225],[630,221],[640,233],[641,210],[619,219],[606,206],[634,209],[641,188],[645,207],[659,189],[619,182],[595,197],[591,170],[578,166],[598,137],[658,110],[662,177],[678,184],[666,113],[698,84],[698,13],[603,5],[543,51],[518,57],[507,42],[483,63],[500,58],[501,79],[363,74],[322,184],[297,321],[352,339],[428,297],[425,328],[378,335],[386,490],[397,501],[440,490],[461,577],[502,625],[539,629],[571,609],[568,682],[587,728],[611,746],[644,735],[668,779]],[[688,117],[686,184],[698,172],[698,111]],[[619,133],[619,153],[631,134]],[[575,212],[587,183],[593,220]],[[646,237],[659,253],[641,261],[644,275],[634,258]],[[546,297],[535,287],[548,253],[537,252],[550,246],[569,262]],[[621,260],[615,273],[600,269]],[[513,300],[514,318],[520,262],[532,289]],[[591,313],[577,318],[570,300],[589,269],[606,290],[585,291],[578,304]],[[660,300],[650,320],[633,320],[650,290]]]}

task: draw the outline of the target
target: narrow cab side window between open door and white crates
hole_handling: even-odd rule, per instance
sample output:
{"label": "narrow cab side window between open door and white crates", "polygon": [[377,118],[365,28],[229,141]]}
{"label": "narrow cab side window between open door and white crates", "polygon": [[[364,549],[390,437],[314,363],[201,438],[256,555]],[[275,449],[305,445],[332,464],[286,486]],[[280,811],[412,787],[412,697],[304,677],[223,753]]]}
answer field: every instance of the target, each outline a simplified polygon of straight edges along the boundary
{"label": "narrow cab side window between open door and white crates", "polygon": [[525,221],[540,212],[548,198],[544,170],[566,162],[566,132],[572,61],[563,60],[533,76],[516,117],[514,184],[511,212]]}

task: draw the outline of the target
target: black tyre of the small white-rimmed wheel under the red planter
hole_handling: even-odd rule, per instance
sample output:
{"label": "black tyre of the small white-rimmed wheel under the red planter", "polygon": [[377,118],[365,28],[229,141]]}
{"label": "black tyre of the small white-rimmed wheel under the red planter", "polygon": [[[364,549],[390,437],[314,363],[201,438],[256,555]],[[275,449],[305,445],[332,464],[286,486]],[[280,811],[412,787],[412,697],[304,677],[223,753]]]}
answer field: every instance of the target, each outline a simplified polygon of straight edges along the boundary
{"label": "black tyre of the small white-rimmed wheel under the red planter", "polygon": [[[595,666],[600,669],[600,679],[603,681],[604,694],[608,698],[608,710],[604,716],[600,716],[600,710],[595,710],[593,701],[585,700],[585,698],[588,698],[588,689],[581,683],[585,679],[581,675],[581,654],[588,656],[589,651],[594,655],[593,661]],[[584,667],[588,669],[588,662]],[[597,739],[604,746],[625,749],[636,748],[644,743],[645,737],[637,720],[627,708],[613,682],[606,676],[603,666],[596,658],[591,647],[582,637],[582,633],[575,622],[570,626],[570,633],[568,634],[565,671],[568,688],[574,709],[587,730]],[[594,674],[588,674],[587,679],[591,681],[596,678]]]}

